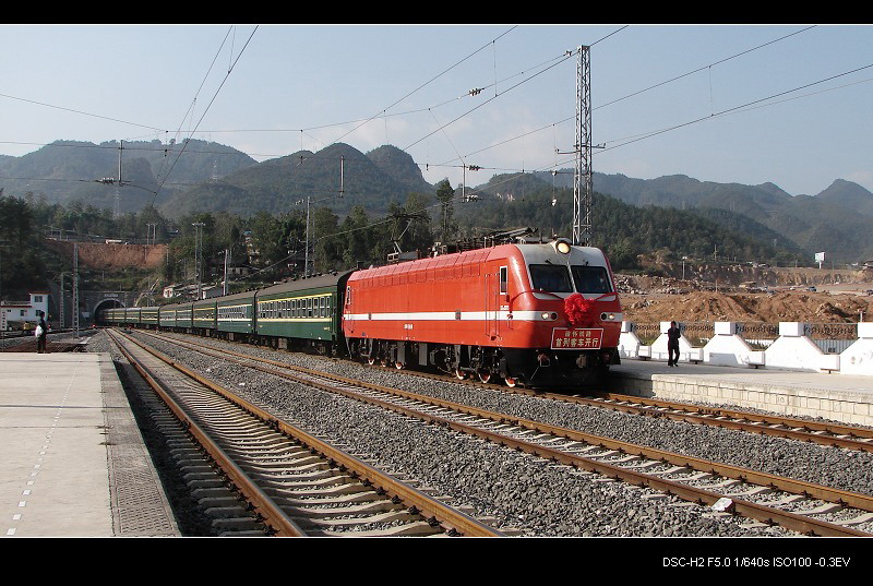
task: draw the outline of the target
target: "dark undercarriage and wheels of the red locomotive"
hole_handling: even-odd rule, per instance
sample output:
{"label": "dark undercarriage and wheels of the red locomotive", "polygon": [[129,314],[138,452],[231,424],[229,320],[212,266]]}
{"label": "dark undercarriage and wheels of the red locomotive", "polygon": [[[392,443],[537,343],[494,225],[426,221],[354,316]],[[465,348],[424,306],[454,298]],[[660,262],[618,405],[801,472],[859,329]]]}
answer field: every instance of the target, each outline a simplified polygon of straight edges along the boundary
{"label": "dark undercarriage and wheels of the red locomotive", "polygon": [[599,385],[609,366],[620,363],[615,348],[495,348],[371,338],[349,339],[348,348],[350,356],[370,364],[434,368],[457,379],[477,378],[481,382],[500,378],[509,386]]}

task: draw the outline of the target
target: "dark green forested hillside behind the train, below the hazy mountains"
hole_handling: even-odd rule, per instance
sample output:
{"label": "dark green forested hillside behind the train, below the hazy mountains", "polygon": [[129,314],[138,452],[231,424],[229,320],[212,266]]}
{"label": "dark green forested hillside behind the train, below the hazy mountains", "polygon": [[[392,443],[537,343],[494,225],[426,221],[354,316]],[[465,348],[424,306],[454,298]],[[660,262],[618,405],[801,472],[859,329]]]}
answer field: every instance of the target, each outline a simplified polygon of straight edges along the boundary
{"label": "dark green forested hillside behind the train, below the hazy mountains", "polygon": [[[438,187],[443,188],[444,183]],[[436,192],[444,193],[443,189]],[[384,264],[387,253],[395,250],[394,240],[403,251],[423,251],[435,240],[453,242],[521,227],[536,228],[547,238],[571,234],[571,190],[527,191],[518,198],[479,193],[478,199],[469,202],[459,201],[459,191],[451,187],[447,192],[450,199],[452,194],[455,198],[452,215],[445,223],[451,232],[446,236],[439,200],[428,194],[410,195],[403,205],[391,204],[390,222],[385,222],[384,214],[372,213],[360,205],[340,218],[322,203],[312,210],[308,231],[304,210],[299,206],[274,215],[261,212],[242,217],[220,211],[199,212],[176,219],[147,207],[116,219],[108,210],[81,204],[68,207],[0,193],[0,223],[10,227],[0,237],[2,291],[9,296],[13,291],[23,295],[28,288],[41,289],[47,279],[57,282],[61,272],[71,271],[71,259],[45,246],[43,235],[48,226],[52,227],[52,232],[67,237],[103,235],[140,242],[148,237],[147,226],[154,226],[153,241],[169,243],[166,266],[137,285],[143,287],[153,287],[156,278],[162,283],[190,280],[191,259],[198,241],[192,227],[195,223],[204,226],[202,247],[206,274],[219,271],[224,251],[230,250],[237,264],[259,270],[272,267],[259,273],[259,278],[266,282],[299,271],[302,244],[308,235],[313,242],[315,270],[326,272],[352,268],[359,263]],[[810,264],[806,254],[796,254],[782,240],[774,242],[765,229],[761,230],[764,238],[753,238],[721,227],[726,222],[739,220],[736,217],[704,218],[692,212],[663,207],[636,207],[599,193],[594,198],[594,244],[607,251],[619,271],[645,268],[641,256],[666,262],[689,256],[696,261],[715,258],[780,266],[796,262]],[[753,231],[749,227],[744,230]],[[13,250],[14,253],[10,253]],[[256,254],[250,254],[252,250]],[[296,265],[289,262],[289,254],[294,255]],[[101,283],[106,277],[105,274],[95,276]]]}

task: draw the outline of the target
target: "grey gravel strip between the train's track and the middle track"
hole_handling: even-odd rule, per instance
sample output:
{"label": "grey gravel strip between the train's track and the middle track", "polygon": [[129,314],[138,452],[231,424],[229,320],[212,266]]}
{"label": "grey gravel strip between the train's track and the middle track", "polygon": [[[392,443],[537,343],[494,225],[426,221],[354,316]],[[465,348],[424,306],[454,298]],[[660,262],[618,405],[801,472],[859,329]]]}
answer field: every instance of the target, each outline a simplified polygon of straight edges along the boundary
{"label": "grey gravel strip between the train's track and the middle track", "polygon": [[514,395],[500,390],[455,384],[450,379],[430,381],[393,369],[367,368],[315,356],[275,352],[214,339],[210,344],[667,452],[873,494],[873,454],[869,452]]}

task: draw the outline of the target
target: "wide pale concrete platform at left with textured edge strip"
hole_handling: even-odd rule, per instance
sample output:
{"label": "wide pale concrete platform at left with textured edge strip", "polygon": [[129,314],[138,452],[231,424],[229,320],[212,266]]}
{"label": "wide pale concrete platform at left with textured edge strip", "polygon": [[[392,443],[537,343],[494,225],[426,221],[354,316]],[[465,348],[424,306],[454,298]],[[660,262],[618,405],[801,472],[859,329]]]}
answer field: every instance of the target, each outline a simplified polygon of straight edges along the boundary
{"label": "wide pale concrete platform at left with textured edge strip", "polygon": [[108,354],[0,354],[0,536],[179,535]]}

